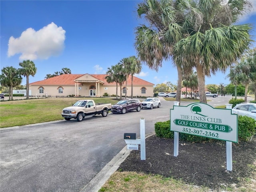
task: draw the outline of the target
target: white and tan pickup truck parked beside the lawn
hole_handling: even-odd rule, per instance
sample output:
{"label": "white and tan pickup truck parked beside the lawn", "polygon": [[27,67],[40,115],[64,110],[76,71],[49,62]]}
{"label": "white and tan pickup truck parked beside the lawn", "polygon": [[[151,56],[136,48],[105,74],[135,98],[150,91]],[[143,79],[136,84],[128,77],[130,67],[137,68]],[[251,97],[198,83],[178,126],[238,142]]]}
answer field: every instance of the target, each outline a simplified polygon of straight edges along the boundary
{"label": "white and tan pickup truck parked beside the lawn", "polygon": [[111,106],[111,103],[94,103],[94,100],[79,100],[73,106],[64,108],[61,115],[67,121],[71,118],[82,121],[85,116],[95,116],[96,114],[102,114],[103,117],[106,117],[108,111],[111,110]]}

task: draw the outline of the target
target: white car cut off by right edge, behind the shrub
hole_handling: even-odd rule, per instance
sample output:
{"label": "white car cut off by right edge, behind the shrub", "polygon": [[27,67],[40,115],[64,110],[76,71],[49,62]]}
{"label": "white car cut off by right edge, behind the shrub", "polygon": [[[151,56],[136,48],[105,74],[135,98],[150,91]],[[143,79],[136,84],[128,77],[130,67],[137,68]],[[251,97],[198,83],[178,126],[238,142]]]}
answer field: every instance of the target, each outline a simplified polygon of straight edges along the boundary
{"label": "white car cut off by right edge, behind the shrub", "polygon": [[256,120],[256,103],[240,103],[232,108],[232,113],[245,115]]}

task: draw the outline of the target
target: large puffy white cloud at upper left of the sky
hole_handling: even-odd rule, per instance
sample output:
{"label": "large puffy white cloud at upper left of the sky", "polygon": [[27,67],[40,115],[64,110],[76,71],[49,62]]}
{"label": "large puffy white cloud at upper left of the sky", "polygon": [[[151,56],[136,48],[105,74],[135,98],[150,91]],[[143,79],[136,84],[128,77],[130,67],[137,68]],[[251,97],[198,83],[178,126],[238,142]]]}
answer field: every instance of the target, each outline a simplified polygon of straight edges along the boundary
{"label": "large puffy white cloud at upper left of the sky", "polygon": [[10,37],[8,57],[21,54],[20,60],[36,60],[57,56],[64,49],[65,33],[66,31],[54,22],[38,31],[28,28],[19,38]]}

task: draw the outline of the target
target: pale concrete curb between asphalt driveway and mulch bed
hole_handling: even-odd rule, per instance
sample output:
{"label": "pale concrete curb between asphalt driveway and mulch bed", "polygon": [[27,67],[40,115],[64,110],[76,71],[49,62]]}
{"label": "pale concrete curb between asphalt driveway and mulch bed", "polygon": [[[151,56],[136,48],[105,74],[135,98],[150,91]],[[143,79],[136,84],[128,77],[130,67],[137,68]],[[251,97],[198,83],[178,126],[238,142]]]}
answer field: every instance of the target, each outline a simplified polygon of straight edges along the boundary
{"label": "pale concrete curb between asphalt driveway and mulch bed", "polygon": [[[154,135],[155,132],[146,134],[146,138]],[[128,157],[132,150],[125,146],[114,158],[96,174],[96,176],[80,190],[80,192],[98,192],[106,183],[110,176],[119,168],[120,164]]]}

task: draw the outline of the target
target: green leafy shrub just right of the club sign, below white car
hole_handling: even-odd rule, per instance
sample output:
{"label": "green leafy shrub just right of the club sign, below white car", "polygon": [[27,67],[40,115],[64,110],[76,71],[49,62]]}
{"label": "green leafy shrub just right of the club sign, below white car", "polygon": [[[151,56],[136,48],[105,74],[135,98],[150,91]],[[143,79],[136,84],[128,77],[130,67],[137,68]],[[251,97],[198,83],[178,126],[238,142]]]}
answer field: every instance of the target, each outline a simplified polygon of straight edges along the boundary
{"label": "green leafy shrub just right of the club sign, below white car", "polygon": [[256,120],[248,116],[238,116],[238,138],[248,141],[256,132]]}

